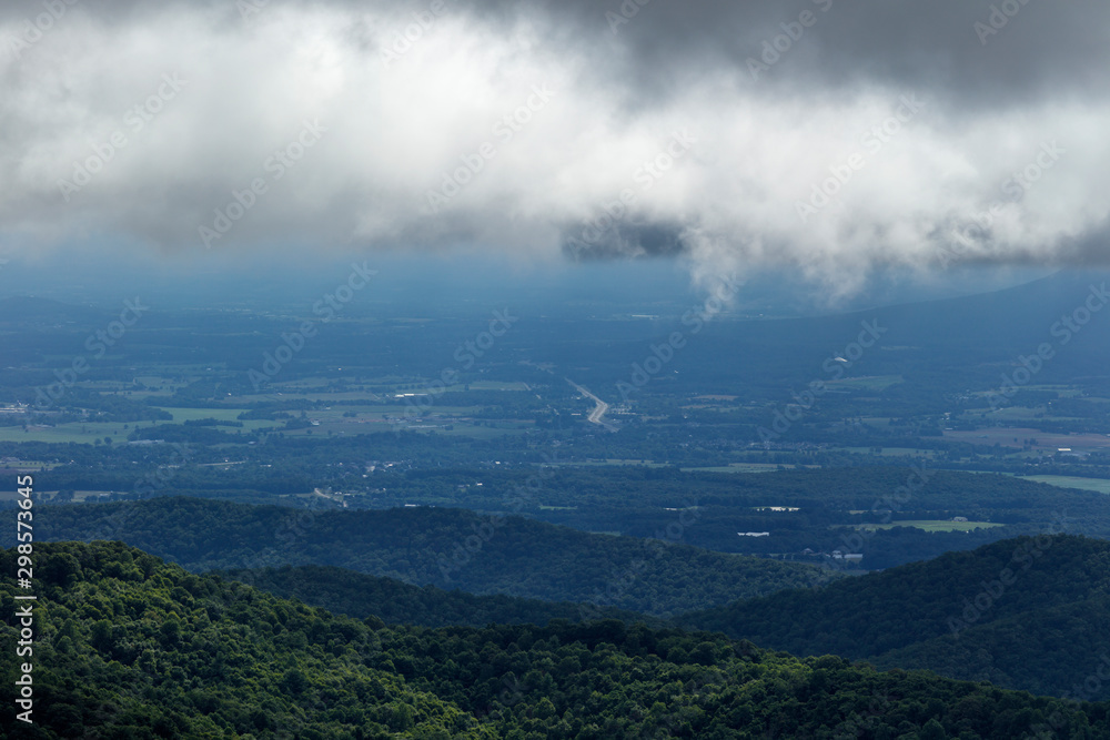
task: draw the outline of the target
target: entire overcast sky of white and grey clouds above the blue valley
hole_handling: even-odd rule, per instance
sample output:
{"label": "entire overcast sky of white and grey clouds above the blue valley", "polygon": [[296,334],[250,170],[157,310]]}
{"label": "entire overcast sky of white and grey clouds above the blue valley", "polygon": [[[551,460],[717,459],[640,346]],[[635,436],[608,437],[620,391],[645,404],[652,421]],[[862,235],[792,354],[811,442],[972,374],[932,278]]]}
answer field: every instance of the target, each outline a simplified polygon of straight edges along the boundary
{"label": "entire overcast sky of white and grey clouds above the blue valley", "polygon": [[1104,0],[12,0],[0,259],[1104,264],[1108,37]]}

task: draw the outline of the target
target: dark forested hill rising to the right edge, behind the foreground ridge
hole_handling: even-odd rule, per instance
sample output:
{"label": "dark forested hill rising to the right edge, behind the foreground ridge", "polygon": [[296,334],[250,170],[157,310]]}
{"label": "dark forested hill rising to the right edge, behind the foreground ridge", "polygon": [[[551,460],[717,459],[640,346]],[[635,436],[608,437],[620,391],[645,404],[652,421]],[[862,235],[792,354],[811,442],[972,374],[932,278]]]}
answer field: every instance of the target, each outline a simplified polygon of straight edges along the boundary
{"label": "dark forested hill rising to the right edge, behind the foreground ridge", "polygon": [[1110,543],[1021,537],[678,621],[796,655],[1106,698],[1110,679],[1077,687],[1110,675]]}

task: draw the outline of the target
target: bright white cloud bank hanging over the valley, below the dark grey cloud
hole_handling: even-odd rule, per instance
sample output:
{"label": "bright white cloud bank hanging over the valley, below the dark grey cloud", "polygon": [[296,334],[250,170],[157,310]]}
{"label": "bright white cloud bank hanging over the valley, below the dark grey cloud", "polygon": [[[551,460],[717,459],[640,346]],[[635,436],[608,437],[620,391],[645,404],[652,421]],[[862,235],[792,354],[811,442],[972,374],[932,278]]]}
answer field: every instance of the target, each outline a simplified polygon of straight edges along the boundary
{"label": "bright white cloud bank hanging over the valley, below the dark grey cloud", "polygon": [[[882,75],[820,90],[776,68],[768,77],[781,84],[755,84],[741,61],[668,72],[685,82],[660,92],[636,67],[650,58],[630,47],[567,45],[549,14],[491,20],[450,3],[386,68],[381,51],[408,11],[273,6],[250,23],[231,11],[171,4],[109,22],[78,7],[20,59],[0,55],[9,252],[87,233],[203,250],[199,229],[262,179],[265,194],[213,249],[478,244],[551,259],[632,191],[630,220],[680,235],[697,275],[785,263],[836,294],[875,264],[936,265],[952,231],[1002,199],[1046,141],[1066,153],[960,259],[1091,260],[1110,216],[1110,101],[1098,95],[969,107],[942,87]],[[0,24],[0,39],[19,32],[16,17]],[[823,43],[811,42],[799,59]],[[128,111],[165,74],[185,87],[135,130]],[[549,101],[535,104],[537,85]],[[924,109],[876,149],[865,134],[905,94]],[[279,179],[268,162],[314,120],[326,133]],[[662,176],[645,175],[684,130],[696,143]],[[60,181],[117,132],[125,146],[63,193]],[[493,155],[430,212],[428,192],[444,192],[445,175],[483,145]],[[799,219],[798,202],[854,154],[864,164],[836,200]]]}

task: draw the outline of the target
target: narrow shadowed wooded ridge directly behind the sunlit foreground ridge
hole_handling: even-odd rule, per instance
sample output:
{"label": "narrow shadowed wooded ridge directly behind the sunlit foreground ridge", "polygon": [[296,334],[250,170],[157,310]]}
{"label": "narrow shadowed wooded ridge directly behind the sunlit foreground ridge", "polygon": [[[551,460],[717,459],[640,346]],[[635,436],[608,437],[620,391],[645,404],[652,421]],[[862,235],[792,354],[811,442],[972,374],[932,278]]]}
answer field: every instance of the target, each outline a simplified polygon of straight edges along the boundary
{"label": "narrow shadowed wooded ridge directly behind the sunlit foreground ridge", "polygon": [[490,624],[546,625],[552,619],[582,621],[584,618],[663,624],[658,618],[612,607],[504,595],[475,596],[460,590],[445,591],[434,586],[421,588],[393,578],[367,576],[332,566],[241,568],[213,572],[284,599],[301,599],[311,606],[359,619],[377,617],[387,625],[485,627]]}

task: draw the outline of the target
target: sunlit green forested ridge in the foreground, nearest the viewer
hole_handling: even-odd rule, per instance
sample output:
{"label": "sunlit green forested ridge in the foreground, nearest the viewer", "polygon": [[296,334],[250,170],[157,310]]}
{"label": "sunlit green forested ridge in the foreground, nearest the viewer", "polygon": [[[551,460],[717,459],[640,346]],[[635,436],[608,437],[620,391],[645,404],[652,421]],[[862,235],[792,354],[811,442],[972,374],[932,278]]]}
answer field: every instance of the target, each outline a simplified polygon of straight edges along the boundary
{"label": "sunlit green forested ridge in the foreground, nearest the viewer", "polygon": [[[0,554],[12,638],[16,553]],[[1110,738],[1110,706],[618,620],[387,628],[118,543],[40,545],[12,738]],[[8,663],[6,692],[13,691]],[[11,701],[8,701],[11,706]]]}

